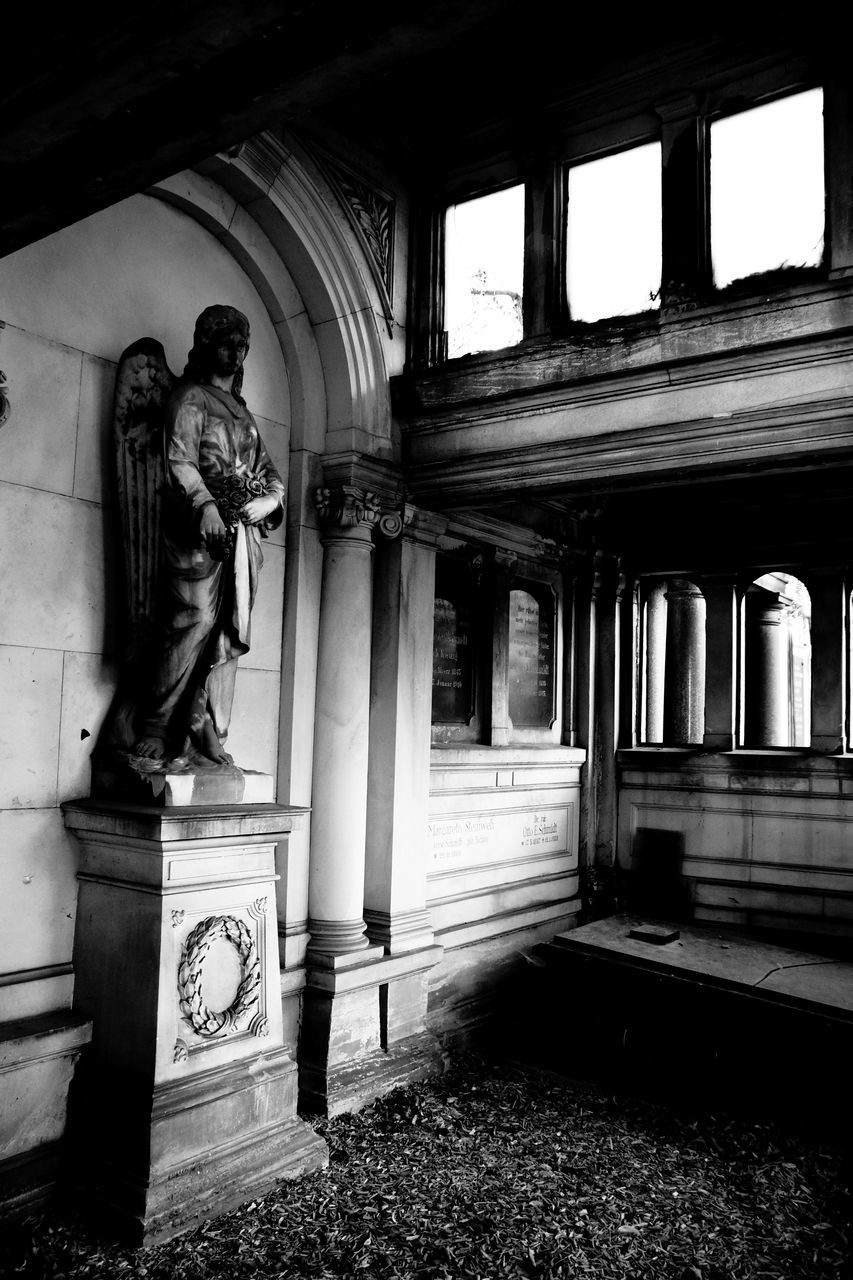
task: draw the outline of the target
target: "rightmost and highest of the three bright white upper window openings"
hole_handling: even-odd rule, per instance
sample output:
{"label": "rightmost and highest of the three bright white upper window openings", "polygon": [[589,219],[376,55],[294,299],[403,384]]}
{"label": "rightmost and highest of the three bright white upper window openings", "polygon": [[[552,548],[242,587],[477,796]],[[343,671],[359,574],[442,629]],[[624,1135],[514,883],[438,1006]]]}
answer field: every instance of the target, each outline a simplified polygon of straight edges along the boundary
{"label": "rightmost and highest of the three bright white upper window openings", "polygon": [[824,255],[824,95],[808,90],[711,125],[713,283]]}

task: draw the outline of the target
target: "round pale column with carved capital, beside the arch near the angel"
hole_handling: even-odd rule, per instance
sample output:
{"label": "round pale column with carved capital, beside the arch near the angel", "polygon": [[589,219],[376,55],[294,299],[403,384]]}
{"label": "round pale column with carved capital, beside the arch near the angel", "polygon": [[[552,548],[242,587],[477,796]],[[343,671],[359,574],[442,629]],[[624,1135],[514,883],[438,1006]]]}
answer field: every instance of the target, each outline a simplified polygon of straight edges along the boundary
{"label": "round pale column with carved capital, beside the arch near the angel", "polygon": [[350,485],[318,495],[323,588],[314,719],[309,959],[368,946],[364,868],[373,529],[379,504]]}

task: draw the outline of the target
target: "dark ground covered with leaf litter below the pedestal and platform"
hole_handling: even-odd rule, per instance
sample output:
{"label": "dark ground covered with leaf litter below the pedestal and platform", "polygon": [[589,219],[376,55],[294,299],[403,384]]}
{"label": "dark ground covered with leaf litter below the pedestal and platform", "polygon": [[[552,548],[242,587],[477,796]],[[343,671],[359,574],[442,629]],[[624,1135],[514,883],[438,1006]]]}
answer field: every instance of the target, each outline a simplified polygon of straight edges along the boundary
{"label": "dark ground covered with leaf litter below the pedestal and platform", "polygon": [[29,1219],[0,1274],[72,1280],[840,1280],[841,1153],[776,1124],[672,1111],[460,1059],[316,1120],[329,1167],[146,1251]]}

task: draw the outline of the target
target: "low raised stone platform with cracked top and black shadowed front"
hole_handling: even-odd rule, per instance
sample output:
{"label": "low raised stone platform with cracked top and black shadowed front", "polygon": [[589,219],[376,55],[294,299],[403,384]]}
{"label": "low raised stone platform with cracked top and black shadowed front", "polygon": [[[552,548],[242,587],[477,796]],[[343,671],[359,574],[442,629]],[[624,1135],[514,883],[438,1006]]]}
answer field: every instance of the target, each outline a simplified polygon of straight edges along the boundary
{"label": "low raised stone platform with cracked top and black shadowed front", "polygon": [[[631,937],[640,924],[678,936]],[[797,1112],[853,1139],[849,961],[631,915],[557,934],[537,957],[540,1061],[663,1101]]]}

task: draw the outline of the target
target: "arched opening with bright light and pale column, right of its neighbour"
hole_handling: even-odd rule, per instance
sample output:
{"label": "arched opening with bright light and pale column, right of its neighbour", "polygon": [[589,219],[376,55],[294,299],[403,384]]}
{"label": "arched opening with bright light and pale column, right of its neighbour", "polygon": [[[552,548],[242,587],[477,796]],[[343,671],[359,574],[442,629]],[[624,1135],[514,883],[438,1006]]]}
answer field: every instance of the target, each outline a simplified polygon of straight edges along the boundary
{"label": "arched opening with bright light and pale column, right of its neighbour", "polygon": [[811,742],[811,599],[790,573],[765,573],[744,596],[744,746]]}

